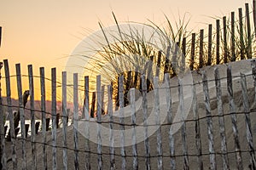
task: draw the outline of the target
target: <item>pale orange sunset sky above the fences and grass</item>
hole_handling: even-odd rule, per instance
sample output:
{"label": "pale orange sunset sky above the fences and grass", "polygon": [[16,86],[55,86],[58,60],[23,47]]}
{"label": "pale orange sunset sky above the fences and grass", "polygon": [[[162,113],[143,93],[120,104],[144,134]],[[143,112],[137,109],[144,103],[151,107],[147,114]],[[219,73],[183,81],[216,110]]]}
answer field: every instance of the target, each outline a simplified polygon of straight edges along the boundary
{"label": "pale orange sunset sky above the fences and grass", "polygon": [[3,27],[0,60],[9,59],[11,74],[15,64],[27,74],[32,64],[34,75],[44,66],[46,77],[50,68],[57,68],[58,79],[65,69],[68,56],[79,42],[99,30],[98,22],[113,26],[112,11],[119,22],[148,23],[153,20],[162,24],[164,14],[169,19],[187,14],[189,26],[195,31],[214,24],[211,17],[230,14],[244,8],[247,0],[23,0],[3,1],[0,5],[0,26]]}

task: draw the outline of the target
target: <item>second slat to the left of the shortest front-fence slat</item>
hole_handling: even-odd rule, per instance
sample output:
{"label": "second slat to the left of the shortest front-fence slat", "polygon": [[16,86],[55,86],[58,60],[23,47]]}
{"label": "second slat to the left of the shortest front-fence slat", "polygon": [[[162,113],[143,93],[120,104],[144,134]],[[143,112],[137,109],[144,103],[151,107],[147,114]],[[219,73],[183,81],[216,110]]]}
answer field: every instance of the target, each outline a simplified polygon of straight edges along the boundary
{"label": "second slat to the left of the shortest front-fence slat", "polygon": [[109,155],[110,155],[110,169],[115,169],[114,161],[114,140],[113,140],[113,88],[108,85],[108,115],[109,115]]}

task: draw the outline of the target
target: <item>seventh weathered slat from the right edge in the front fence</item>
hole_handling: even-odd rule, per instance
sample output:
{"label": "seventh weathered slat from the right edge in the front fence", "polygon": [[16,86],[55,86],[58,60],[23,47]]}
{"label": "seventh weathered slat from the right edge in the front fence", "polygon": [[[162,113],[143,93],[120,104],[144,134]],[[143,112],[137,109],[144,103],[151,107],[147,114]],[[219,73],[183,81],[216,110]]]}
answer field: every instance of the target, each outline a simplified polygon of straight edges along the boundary
{"label": "seventh weathered slat from the right edge in the front fence", "polygon": [[186,122],[184,118],[184,98],[183,98],[183,80],[178,79],[178,111],[182,116],[182,145],[183,145],[183,169],[189,169],[188,145],[186,136]]}

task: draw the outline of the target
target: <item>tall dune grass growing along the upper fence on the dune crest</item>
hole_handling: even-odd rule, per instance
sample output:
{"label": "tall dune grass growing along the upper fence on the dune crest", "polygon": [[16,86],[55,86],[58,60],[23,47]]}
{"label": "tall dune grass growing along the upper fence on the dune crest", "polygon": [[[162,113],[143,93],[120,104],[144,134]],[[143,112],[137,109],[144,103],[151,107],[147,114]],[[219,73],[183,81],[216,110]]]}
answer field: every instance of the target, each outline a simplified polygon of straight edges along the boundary
{"label": "tall dune grass growing along the upper fence on the dune crest", "polygon": [[[174,22],[168,16],[164,15],[164,17],[166,23],[163,25],[158,25],[151,20],[148,24],[143,24],[152,28],[153,31],[149,33],[149,36],[148,32],[129,26],[129,23],[126,24],[127,30],[124,30],[115,14],[113,14],[114,24],[117,27],[115,34],[106,31],[102,23],[99,23],[104,35],[104,40],[101,39],[101,41],[104,42],[98,42],[102,44],[102,48],[96,51],[95,56],[90,56],[92,60],[90,66],[93,67],[95,76],[101,74],[104,77],[103,80],[112,84],[113,99],[116,105],[119,103],[118,77],[120,76],[125,77],[125,105],[127,105],[128,90],[130,88],[141,90],[140,76],[142,74],[148,77],[148,90],[151,90],[153,85],[150,77],[158,76],[162,80],[164,73],[170,73],[171,77],[174,77],[179,74],[180,70],[188,70],[191,62],[194,63],[193,68],[190,68],[192,70],[197,70],[204,65],[218,64],[216,25],[212,25],[212,42],[208,42],[208,32],[204,31],[201,43],[200,31],[189,29],[189,19],[186,15]],[[218,20],[220,26],[220,64],[238,59],[255,58],[255,31],[248,35],[247,18],[241,14],[241,8],[237,18],[235,13],[231,13],[228,17],[213,19]],[[251,26],[253,30],[253,24]],[[195,32],[194,46],[192,32]],[[191,60],[193,50],[195,58]],[[202,53],[202,61],[199,59],[200,53]],[[211,59],[208,59],[209,54],[212,55]],[[156,67],[159,67],[158,74]]]}

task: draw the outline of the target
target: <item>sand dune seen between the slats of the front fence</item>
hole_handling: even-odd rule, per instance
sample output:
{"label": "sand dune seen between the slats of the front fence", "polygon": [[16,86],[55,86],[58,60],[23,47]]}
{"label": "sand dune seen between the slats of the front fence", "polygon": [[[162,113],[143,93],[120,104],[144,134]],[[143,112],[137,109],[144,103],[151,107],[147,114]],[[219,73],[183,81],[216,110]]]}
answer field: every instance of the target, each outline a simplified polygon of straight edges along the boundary
{"label": "sand dune seen between the slats of the front fence", "polygon": [[[242,61],[236,61],[232,62],[229,65],[232,66],[232,75],[234,77],[233,79],[233,90],[234,90],[234,97],[235,97],[235,104],[236,104],[236,111],[243,111],[243,105],[242,105],[242,96],[241,96],[241,80],[240,77],[236,77],[240,75],[240,72],[245,73],[247,75],[252,74],[252,68],[250,64],[250,59],[242,60]],[[206,116],[206,110],[205,110],[205,104],[204,104],[204,94],[202,92],[202,83],[201,82],[201,71],[207,72],[208,80],[214,80],[214,67],[215,66],[207,66],[202,68],[200,71],[193,71],[191,73],[191,76],[193,77],[194,82],[199,82],[196,85],[196,97],[197,97],[197,105],[198,105],[198,114],[200,117]],[[220,77],[226,77],[226,69],[227,65],[217,65],[218,70],[220,72]],[[188,80],[188,79],[187,79]],[[189,80],[191,81],[191,80]],[[187,82],[189,82],[187,81]],[[177,77],[172,78],[172,86],[177,85]],[[184,81],[186,82],[186,81]],[[211,101],[211,113],[212,116],[212,124],[213,124],[213,134],[214,134],[214,150],[216,153],[216,165],[217,169],[221,169],[223,166],[222,158],[221,158],[221,138],[219,134],[219,124],[218,124],[218,108],[217,108],[217,99],[216,99],[216,88],[215,88],[215,82],[209,82],[209,96]],[[226,79],[224,78],[221,82],[222,86],[222,93],[223,93],[223,107],[224,107],[224,115],[229,114],[229,99],[227,96],[227,83]],[[189,92],[191,90],[191,87],[186,88],[184,90],[184,96],[189,96],[191,94]],[[247,76],[247,94],[249,99],[249,105],[250,109],[255,109],[255,101],[254,101],[254,88],[253,88],[253,77]],[[143,109],[141,105],[141,99],[139,98],[137,100],[137,123],[143,123]],[[148,93],[148,114],[153,114],[153,106],[154,106],[154,92]],[[177,95],[177,88],[172,88],[172,111],[174,114],[177,112],[178,108],[178,95]],[[190,105],[189,97],[185,97],[185,107],[189,108],[188,110],[188,116],[186,117],[187,120],[193,119],[193,112],[192,107]],[[125,112],[129,112],[131,109],[130,105],[125,107]],[[152,111],[152,112],[151,112]],[[160,108],[160,112],[166,111],[165,106]],[[256,116],[254,116],[255,112],[251,112],[251,122],[252,122],[252,131],[253,131],[253,141],[255,145],[256,141]],[[162,115],[161,115],[162,116]],[[153,116],[154,117],[154,116]],[[163,122],[166,122],[166,117],[161,117]],[[102,116],[103,122],[108,122],[109,116]],[[227,149],[228,151],[232,152],[235,150],[235,144],[233,139],[233,131],[232,131],[232,123],[231,123],[231,117],[224,116],[225,121],[225,133],[226,133],[226,139],[227,139]],[[119,122],[119,117],[117,115],[114,115],[114,122]],[[241,144],[241,150],[248,150],[248,144],[247,144],[247,137],[246,137],[246,124],[245,124],[245,116],[244,115],[238,115],[237,116],[237,127],[239,132],[239,141]],[[125,117],[125,123],[131,124],[131,116]],[[93,123],[95,124],[95,123]],[[105,126],[107,128],[106,132],[109,132],[109,125],[108,124],[102,124],[102,126]],[[201,126],[201,144],[202,144],[202,160],[203,165],[207,169],[210,167],[210,160],[209,160],[209,150],[208,150],[208,136],[207,136],[207,119],[201,119],[200,120],[200,126]],[[82,127],[80,127],[81,130]],[[119,129],[118,124],[114,124],[115,129]],[[130,126],[125,127],[125,129],[131,128]],[[170,150],[169,150],[169,129],[170,125],[165,125],[161,127],[161,137],[162,137],[162,148],[163,148],[163,165],[164,168],[169,169],[170,168]],[[175,128],[172,127],[172,130],[175,130]],[[153,131],[150,129],[150,131]],[[140,130],[137,130],[137,140],[143,138],[143,133],[140,133]],[[96,136],[96,128],[92,127],[90,129],[90,135],[94,137]],[[108,144],[108,134],[102,133],[104,139],[104,144]],[[104,136],[106,135],[106,136]],[[119,137],[119,134],[117,134]],[[197,163],[197,156],[196,156],[196,146],[195,146],[195,122],[186,122],[186,135],[187,135],[187,147],[188,147],[188,153],[189,155],[189,167],[190,169],[196,169],[198,166]],[[60,148],[57,148],[57,169],[63,168],[63,161],[62,161],[62,129],[57,130],[57,146]],[[152,169],[157,169],[157,140],[156,140],[156,133],[153,133],[149,137],[149,145],[150,145],[150,162]],[[175,139],[175,155],[176,157],[176,163],[177,163],[177,169],[183,169],[183,149],[182,149],[182,135],[181,135],[181,129],[177,129],[177,132],[174,133],[174,139]],[[30,138],[28,138],[30,140]],[[38,142],[42,141],[42,134],[39,133],[36,137],[36,140]],[[129,135],[125,136],[125,144],[129,144],[131,141],[131,138]],[[115,139],[115,145],[119,145],[119,139]],[[51,132],[47,133],[47,144],[52,144],[51,139]],[[73,126],[67,127],[67,144],[68,148],[71,150],[67,151],[68,154],[68,169],[74,169],[74,152],[73,152]],[[85,162],[85,153],[84,153],[84,146],[85,139],[83,132],[80,131],[79,133],[79,150],[82,150],[79,152],[79,167],[80,169],[84,169],[84,162]],[[7,143],[7,156],[8,158],[11,157],[11,151],[10,151],[10,144]],[[97,156],[96,156],[96,150],[97,150],[97,144],[90,142],[90,165],[91,169],[97,169]],[[102,159],[103,159],[103,168],[109,169],[110,167],[110,156],[109,154],[109,147],[103,146],[102,147]],[[143,158],[145,154],[144,149],[144,142],[140,141],[137,144],[137,153],[138,153],[138,161],[139,161],[139,169],[145,169],[145,160]],[[47,154],[48,154],[48,167],[51,169],[52,167],[52,147],[47,147]],[[115,164],[116,169],[121,169],[121,156],[120,155],[120,148],[115,148]],[[125,154],[126,157],[126,169],[132,169],[132,149],[131,146],[125,147]],[[21,141],[17,141],[17,158],[18,158],[18,167],[21,168]],[[27,169],[31,169],[32,165],[32,156],[31,156],[31,144],[29,142],[26,143],[26,158],[27,158]],[[245,169],[247,169],[248,165],[250,164],[250,155],[249,152],[243,152],[242,153],[242,161],[243,166]],[[37,144],[37,166],[38,169],[43,169],[43,151],[42,151],[42,144]],[[230,162],[230,169],[236,169],[236,157],[235,154],[229,154],[229,162]],[[12,162],[9,161],[8,163],[9,169],[12,169]]]}

